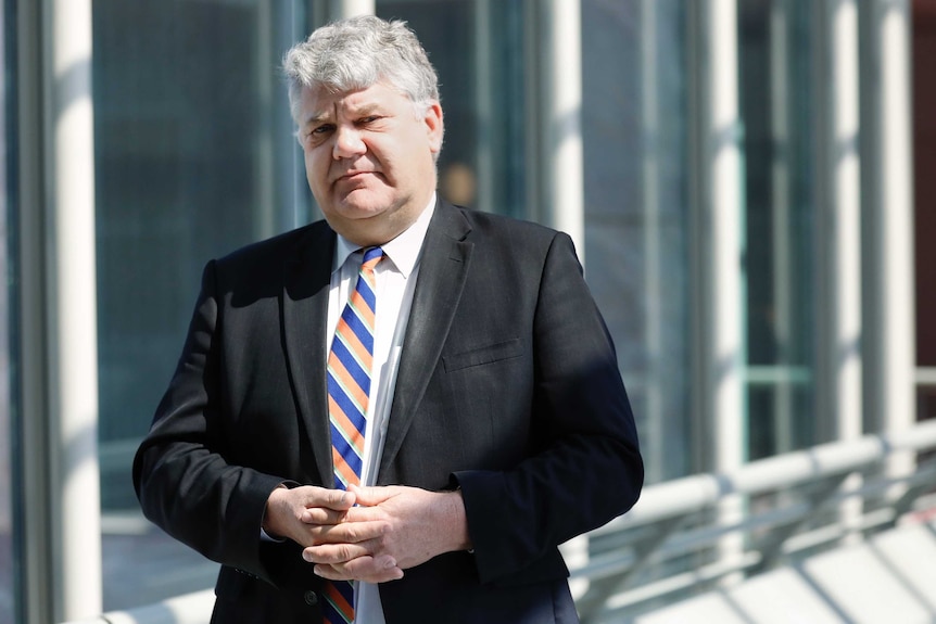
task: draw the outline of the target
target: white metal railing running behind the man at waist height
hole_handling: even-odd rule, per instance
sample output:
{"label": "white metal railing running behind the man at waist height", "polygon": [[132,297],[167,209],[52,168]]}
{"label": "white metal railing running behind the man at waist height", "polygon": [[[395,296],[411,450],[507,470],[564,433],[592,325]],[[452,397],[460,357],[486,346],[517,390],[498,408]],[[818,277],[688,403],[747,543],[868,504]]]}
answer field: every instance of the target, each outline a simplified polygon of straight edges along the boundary
{"label": "white metal railing running behind the man at waist height", "polygon": [[[628,622],[922,518],[936,510],[931,453],[936,421],[648,486],[625,515],[564,546],[582,621]],[[728,500],[741,522],[720,520]],[[199,591],[72,624],[204,624],[213,602]]]}

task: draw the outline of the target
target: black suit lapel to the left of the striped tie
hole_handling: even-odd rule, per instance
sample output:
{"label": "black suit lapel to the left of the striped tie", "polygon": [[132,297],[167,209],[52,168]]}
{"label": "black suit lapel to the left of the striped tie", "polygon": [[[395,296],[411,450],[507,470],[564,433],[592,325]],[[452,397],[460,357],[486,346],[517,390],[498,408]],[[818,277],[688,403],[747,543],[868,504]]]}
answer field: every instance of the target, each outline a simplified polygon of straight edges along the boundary
{"label": "black suit lapel to the left of the striped tie", "polygon": [[315,224],[287,263],[282,296],[283,345],[289,377],[315,466],[325,486],[331,486],[331,432],[326,386],[325,327],[336,235]]}

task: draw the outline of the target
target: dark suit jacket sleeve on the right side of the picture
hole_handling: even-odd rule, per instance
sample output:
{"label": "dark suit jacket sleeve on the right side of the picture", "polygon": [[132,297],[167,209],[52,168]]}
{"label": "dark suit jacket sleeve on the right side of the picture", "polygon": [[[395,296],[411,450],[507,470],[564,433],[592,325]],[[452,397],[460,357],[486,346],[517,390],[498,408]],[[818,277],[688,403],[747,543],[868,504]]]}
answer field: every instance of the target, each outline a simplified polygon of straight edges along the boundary
{"label": "dark suit jacket sleeve on the right side of the picture", "polygon": [[482,582],[522,576],[556,545],[630,509],[643,484],[633,413],[571,240],[546,253],[533,320],[537,451],[506,471],[459,471]]}

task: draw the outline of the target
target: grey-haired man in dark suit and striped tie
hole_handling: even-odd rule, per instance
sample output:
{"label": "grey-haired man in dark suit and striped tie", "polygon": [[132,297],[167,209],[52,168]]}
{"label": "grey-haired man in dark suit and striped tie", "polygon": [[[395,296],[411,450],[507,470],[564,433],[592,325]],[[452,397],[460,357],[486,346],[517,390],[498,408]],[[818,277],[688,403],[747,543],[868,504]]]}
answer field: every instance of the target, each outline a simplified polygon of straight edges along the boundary
{"label": "grey-haired man in dark suit and striped tie", "polygon": [[213,622],[577,622],[557,546],[643,464],[571,241],[435,196],[405,24],[326,26],[284,65],[326,220],[205,267],[143,511],[223,564]]}

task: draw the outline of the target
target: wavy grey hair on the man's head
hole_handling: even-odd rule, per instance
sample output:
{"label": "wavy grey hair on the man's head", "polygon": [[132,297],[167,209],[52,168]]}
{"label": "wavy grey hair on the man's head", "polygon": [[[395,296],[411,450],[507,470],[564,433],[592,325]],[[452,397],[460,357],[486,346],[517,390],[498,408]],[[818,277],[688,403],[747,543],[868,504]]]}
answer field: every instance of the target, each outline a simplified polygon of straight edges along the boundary
{"label": "wavy grey hair on the man's head", "polygon": [[417,114],[439,101],[435,69],[402,21],[361,15],[322,26],[293,46],[282,65],[296,123],[302,90],[318,86],[343,92],[385,81],[413,101]]}

